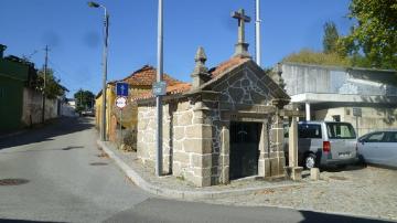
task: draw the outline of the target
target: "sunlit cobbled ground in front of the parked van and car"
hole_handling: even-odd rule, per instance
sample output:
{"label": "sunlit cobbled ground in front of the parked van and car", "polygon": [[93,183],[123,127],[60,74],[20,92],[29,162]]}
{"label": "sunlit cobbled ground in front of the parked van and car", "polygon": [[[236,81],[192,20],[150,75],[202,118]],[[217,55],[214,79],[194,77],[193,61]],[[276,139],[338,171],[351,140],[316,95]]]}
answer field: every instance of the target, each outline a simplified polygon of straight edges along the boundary
{"label": "sunlit cobbled ground in front of the parked van and car", "polygon": [[323,171],[321,180],[324,183],[269,189],[250,195],[204,202],[276,205],[397,220],[397,170],[347,167],[345,170]]}

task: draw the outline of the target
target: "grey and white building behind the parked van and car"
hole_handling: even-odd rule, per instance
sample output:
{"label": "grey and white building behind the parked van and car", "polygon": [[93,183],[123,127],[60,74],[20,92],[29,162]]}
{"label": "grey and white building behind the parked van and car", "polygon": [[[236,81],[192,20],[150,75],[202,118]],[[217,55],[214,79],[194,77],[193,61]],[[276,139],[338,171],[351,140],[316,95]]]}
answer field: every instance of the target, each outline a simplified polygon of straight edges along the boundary
{"label": "grey and white building behind the parked van and car", "polygon": [[291,103],[307,119],[352,123],[358,135],[397,127],[397,72],[283,63]]}

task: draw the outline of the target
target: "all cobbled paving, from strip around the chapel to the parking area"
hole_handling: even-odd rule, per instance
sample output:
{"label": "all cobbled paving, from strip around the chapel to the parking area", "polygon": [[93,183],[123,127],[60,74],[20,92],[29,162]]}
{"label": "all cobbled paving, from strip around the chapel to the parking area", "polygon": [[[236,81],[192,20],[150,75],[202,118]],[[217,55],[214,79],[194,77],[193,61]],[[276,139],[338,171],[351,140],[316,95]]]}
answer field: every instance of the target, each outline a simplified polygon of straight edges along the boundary
{"label": "all cobbled paving, from strip around the chapel to the parking area", "polygon": [[300,182],[265,181],[245,179],[227,185],[196,188],[187,181],[167,176],[154,176],[153,167],[142,167],[135,152],[109,148],[146,181],[174,190],[222,191],[269,187],[244,195],[225,195],[213,199],[194,199],[197,202],[240,206],[283,206],[316,212],[362,215],[397,221],[397,170],[376,167],[351,166],[345,169],[329,169],[320,174],[320,181],[311,181],[309,171],[303,171]]}

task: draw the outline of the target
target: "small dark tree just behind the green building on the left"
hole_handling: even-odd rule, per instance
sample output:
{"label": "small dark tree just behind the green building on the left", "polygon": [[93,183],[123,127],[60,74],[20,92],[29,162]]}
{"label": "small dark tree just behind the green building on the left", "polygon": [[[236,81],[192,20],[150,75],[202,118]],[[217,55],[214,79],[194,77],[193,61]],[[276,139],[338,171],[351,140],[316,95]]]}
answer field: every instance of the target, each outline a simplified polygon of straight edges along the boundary
{"label": "small dark tree just behind the green building on the left", "polygon": [[54,99],[58,96],[63,96],[68,89],[61,85],[61,81],[54,76],[54,71],[46,70],[45,74],[45,88],[44,88],[44,68],[37,72],[37,79],[35,82],[35,88],[45,92],[45,96],[50,99]]}

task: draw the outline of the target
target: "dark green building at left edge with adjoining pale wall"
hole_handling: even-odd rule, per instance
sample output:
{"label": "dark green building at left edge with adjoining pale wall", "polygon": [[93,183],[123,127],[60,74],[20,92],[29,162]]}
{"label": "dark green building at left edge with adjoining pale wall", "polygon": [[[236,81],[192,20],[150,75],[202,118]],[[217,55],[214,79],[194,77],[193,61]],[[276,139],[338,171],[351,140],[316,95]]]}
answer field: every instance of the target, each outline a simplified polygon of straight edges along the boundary
{"label": "dark green building at left edge with adjoining pale wall", "polygon": [[[13,55],[4,57],[6,49],[0,44],[0,131],[41,123],[43,110],[42,93],[34,88],[37,77],[34,64]],[[60,100],[45,102],[45,119],[57,117]]]}

